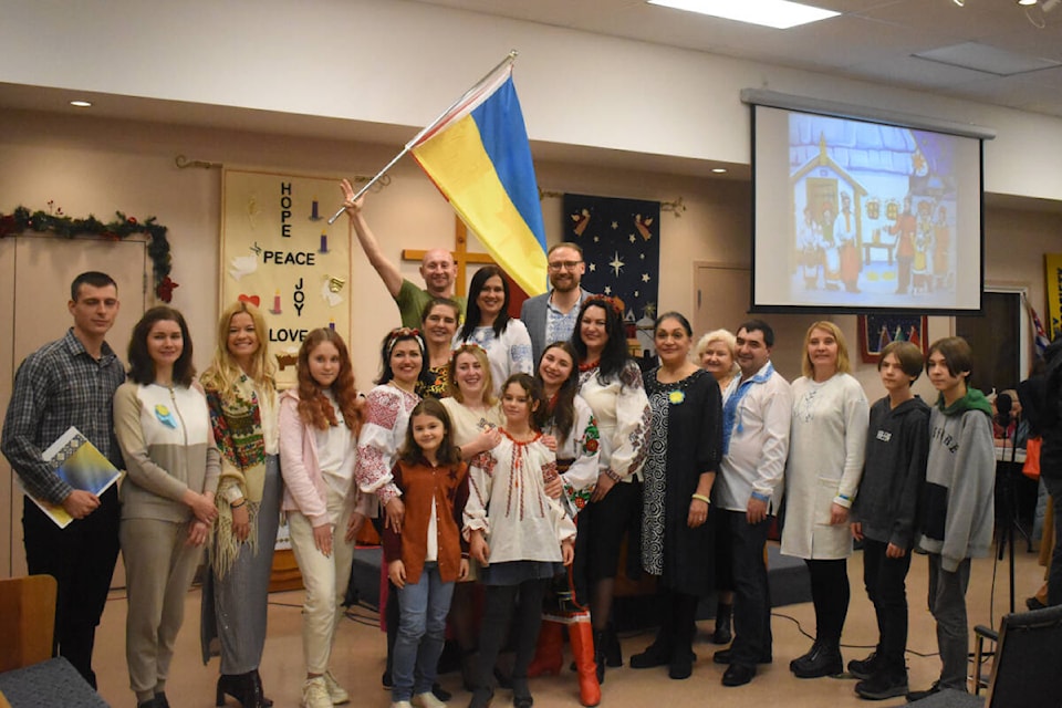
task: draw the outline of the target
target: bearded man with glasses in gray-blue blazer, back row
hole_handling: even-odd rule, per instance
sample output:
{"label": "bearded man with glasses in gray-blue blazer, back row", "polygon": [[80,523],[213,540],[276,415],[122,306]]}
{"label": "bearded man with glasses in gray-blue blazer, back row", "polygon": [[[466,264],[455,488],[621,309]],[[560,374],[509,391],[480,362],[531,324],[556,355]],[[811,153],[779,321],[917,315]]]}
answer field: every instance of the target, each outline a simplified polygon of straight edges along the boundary
{"label": "bearded man with glasses in gray-blue blazer, back row", "polygon": [[546,253],[546,261],[552,290],[524,300],[520,308],[520,319],[531,334],[535,366],[546,344],[572,339],[579,309],[592,294],[580,287],[586,263],[579,243],[563,241],[554,244]]}

